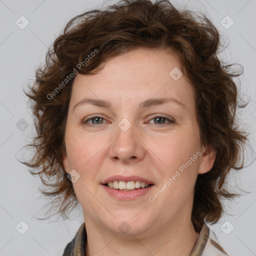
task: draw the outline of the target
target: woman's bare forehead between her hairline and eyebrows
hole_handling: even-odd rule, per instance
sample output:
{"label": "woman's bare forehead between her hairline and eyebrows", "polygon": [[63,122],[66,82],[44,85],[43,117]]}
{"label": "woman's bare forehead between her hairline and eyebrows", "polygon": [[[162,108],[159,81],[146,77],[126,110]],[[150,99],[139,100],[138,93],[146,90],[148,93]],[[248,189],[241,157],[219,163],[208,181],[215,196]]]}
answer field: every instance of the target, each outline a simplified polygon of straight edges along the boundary
{"label": "woman's bare forehead between her hairline and eyebrows", "polygon": [[137,48],[104,62],[96,74],[76,74],[70,104],[85,96],[129,105],[169,97],[192,107],[193,90],[180,70],[178,59],[170,51]]}

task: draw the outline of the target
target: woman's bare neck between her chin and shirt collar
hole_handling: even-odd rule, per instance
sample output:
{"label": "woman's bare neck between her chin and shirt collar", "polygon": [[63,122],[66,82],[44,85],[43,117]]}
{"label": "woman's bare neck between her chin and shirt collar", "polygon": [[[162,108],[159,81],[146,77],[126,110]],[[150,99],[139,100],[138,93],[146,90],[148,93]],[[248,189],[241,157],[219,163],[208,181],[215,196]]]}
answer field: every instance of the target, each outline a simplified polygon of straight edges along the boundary
{"label": "woman's bare neck between her chin and shirt collar", "polygon": [[188,256],[192,251],[199,233],[195,232],[191,220],[175,224],[165,224],[156,232],[148,235],[125,235],[120,236],[112,231],[90,222],[86,223],[87,241],[85,255],[96,256],[154,256],[182,255]]}

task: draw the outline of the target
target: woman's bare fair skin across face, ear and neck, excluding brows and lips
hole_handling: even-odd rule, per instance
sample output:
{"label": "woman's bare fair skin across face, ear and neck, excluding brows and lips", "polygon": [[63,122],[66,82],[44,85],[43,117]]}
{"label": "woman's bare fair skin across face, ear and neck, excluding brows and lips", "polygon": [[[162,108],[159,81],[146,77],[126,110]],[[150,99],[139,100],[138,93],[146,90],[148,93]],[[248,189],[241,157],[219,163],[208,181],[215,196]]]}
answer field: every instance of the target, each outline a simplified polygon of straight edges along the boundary
{"label": "woman's bare fair skin across face, ear and neck, excluding brows and lips", "polygon": [[[201,144],[192,87],[184,75],[178,80],[169,75],[174,67],[181,69],[170,51],[137,48],[111,58],[95,75],[75,75],[63,163],[67,173],[75,169],[80,175],[73,187],[83,208],[86,255],[189,255],[194,247],[199,234],[191,222],[193,188],[197,175],[211,169],[215,151]],[[110,101],[111,107],[74,107],[85,97]],[[138,107],[161,97],[183,105]],[[90,119],[94,114],[103,119]],[[126,131],[118,126],[123,118],[131,124]],[[150,202],[197,151],[201,155]],[[154,187],[136,199],[118,200],[100,185],[115,174],[142,176]],[[127,233],[118,228],[123,221],[130,226]]]}

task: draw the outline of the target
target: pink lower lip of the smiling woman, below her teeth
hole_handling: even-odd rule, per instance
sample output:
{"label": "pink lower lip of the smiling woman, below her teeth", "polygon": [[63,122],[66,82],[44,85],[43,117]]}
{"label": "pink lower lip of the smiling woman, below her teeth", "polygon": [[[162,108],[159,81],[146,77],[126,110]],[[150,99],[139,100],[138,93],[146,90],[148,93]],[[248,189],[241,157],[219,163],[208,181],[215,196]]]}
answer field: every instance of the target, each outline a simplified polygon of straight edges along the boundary
{"label": "pink lower lip of the smiling woman, below her teeth", "polygon": [[141,195],[146,194],[153,185],[150,185],[148,187],[145,188],[139,188],[136,190],[132,190],[132,191],[121,191],[121,190],[117,190],[114,188],[110,188],[106,185],[103,185],[103,188],[108,192],[108,194],[110,194],[112,197],[119,199],[119,200],[131,200],[131,199],[135,199]]}

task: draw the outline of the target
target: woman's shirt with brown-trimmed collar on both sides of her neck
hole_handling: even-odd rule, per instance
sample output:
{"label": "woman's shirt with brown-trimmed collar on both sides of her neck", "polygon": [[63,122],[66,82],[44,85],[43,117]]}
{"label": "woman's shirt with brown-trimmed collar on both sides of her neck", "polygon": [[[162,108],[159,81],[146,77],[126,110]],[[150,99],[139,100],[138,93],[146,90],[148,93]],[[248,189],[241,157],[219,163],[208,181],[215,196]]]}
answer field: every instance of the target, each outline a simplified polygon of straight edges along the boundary
{"label": "woman's shirt with brown-trimmed collar on both sides of her neck", "polygon": [[[62,256],[86,256],[84,251],[86,240],[87,234],[83,222],[74,238],[66,245]],[[227,256],[227,253],[215,240],[215,234],[204,223],[189,256]]]}

